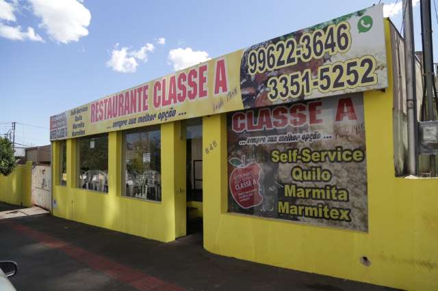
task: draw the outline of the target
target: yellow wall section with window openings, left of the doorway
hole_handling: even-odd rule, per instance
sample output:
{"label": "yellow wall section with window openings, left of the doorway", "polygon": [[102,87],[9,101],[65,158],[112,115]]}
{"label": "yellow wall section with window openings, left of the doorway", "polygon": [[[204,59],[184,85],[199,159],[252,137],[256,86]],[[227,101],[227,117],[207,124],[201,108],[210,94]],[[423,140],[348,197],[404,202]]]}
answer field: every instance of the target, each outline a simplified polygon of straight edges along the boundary
{"label": "yellow wall section with window openings, left of the doorway", "polygon": [[[75,139],[67,141],[67,185],[60,186],[59,177],[55,174],[59,173],[60,167],[60,143],[54,142],[52,178],[55,183],[53,199],[56,207],[53,207],[53,214],[164,242],[185,235],[185,135],[181,135],[181,122],[162,124],[161,135],[162,202],[120,195],[120,162],[123,158],[121,132],[109,133],[107,194],[75,187]],[[183,158],[183,163],[179,161],[180,158]],[[175,223],[175,217],[183,223]]]}

